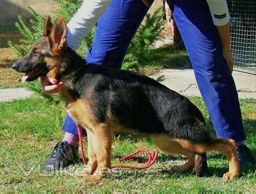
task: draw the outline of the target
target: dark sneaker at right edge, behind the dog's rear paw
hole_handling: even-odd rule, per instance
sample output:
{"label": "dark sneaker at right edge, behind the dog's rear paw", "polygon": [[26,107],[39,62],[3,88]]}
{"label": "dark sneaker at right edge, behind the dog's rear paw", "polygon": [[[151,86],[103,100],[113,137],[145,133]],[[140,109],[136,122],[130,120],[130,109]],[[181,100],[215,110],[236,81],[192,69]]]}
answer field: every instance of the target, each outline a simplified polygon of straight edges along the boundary
{"label": "dark sneaker at right edge, behind the dog's rear paw", "polygon": [[240,145],[237,147],[238,161],[240,163],[241,170],[256,170],[256,160],[253,157],[250,148],[246,145]]}

